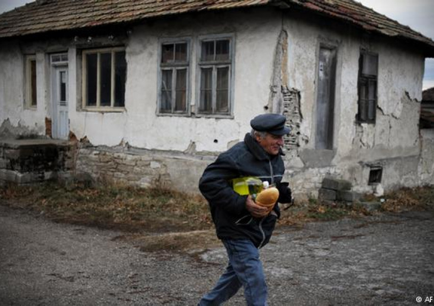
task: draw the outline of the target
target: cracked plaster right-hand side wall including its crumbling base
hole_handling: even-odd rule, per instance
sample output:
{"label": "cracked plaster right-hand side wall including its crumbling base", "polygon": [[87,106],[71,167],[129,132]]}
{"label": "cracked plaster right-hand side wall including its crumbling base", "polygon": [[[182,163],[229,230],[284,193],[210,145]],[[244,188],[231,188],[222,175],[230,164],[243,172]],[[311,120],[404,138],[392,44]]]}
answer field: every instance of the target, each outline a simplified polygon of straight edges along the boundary
{"label": "cracked plaster right-hand side wall including its crumbling base", "polygon": [[[383,166],[384,188],[419,184],[419,109],[424,59],[399,45],[302,17],[285,19],[289,86],[300,92],[300,148],[286,160],[287,179],[299,191],[320,188],[325,175],[350,180],[370,192],[369,166]],[[321,45],[336,47],[333,150],[315,149],[316,80]],[[315,46],[315,47],[314,47]],[[357,77],[360,48],[379,56],[375,124],[359,124]],[[291,150],[290,150],[291,151]],[[303,183],[309,182],[309,184]],[[312,185],[313,184],[313,185]],[[307,186],[306,186],[307,185]]]}

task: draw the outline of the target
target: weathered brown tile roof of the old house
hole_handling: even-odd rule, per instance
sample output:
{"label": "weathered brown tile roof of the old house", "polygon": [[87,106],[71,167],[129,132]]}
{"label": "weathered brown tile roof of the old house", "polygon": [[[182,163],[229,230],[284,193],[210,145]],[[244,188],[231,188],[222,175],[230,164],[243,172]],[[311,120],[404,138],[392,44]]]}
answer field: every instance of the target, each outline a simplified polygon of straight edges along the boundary
{"label": "weathered brown tile roof of the old house", "polygon": [[261,5],[303,9],[368,32],[417,42],[434,56],[431,39],[353,0],[36,0],[0,15],[0,39]]}

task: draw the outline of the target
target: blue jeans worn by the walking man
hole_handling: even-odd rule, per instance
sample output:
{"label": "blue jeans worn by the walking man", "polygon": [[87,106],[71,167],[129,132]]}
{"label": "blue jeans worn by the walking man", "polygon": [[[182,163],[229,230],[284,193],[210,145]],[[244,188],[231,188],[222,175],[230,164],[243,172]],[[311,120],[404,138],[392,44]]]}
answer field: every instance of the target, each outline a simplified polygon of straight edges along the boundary
{"label": "blue jeans worn by the walking man", "polygon": [[199,306],[220,305],[244,287],[248,306],[267,305],[267,284],[259,250],[250,240],[223,240],[229,263],[215,287],[205,294]]}

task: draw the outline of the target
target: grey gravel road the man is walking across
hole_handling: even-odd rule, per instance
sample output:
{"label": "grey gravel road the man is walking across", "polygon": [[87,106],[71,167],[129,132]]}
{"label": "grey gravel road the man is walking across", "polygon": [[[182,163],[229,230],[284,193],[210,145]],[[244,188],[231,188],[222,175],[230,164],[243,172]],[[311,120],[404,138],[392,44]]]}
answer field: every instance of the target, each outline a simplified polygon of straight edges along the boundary
{"label": "grey gravel road the man is walking across", "polygon": [[[119,235],[0,205],[0,305],[195,305],[226,264],[222,247],[146,253]],[[269,303],[434,305],[433,250],[432,212],[279,227],[261,250]]]}

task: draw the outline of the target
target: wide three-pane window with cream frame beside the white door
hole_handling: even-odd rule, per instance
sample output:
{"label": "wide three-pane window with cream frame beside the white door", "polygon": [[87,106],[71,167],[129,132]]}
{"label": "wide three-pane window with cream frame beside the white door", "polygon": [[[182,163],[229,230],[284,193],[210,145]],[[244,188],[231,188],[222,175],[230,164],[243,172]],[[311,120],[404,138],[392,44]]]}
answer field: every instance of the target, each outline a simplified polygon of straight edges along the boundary
{"label": "wide three-pane window with cream frame beside the white door", "polygon": [[125,106],[125,48],[83,51],[83,106],[116,109]]}

